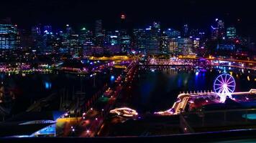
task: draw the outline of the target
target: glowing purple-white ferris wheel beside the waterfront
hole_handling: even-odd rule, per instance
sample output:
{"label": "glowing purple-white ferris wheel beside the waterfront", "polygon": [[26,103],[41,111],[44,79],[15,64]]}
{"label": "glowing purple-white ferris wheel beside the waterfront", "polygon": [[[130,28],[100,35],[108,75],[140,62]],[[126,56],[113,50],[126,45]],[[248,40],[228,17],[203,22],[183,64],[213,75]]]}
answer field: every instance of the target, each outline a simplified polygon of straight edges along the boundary
{"label": "glowing purple-white ferris wheel beside the waterfront", "polygon": [[236,82],[230,74],[220,74],[214,81],[214,92],[221,98],[221,102],[224,102],[226,97],[232,98],[235,87]]}

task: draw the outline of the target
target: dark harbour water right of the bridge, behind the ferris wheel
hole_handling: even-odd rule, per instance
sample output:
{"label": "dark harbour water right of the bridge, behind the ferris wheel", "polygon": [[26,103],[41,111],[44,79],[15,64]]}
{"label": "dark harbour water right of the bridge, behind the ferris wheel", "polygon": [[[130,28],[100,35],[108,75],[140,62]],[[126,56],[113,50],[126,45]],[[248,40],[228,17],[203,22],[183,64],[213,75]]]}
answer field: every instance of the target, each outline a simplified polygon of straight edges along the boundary
{"label": "dark harbour water right of the bridge, behind the ferris wheel", "polygon": [[[213,89],[214,79],[221,73],[227,72],[236,81],[235,92],[247,92],[256,89],[255,71],[217,69],[216,67],[206,71],[196,69],[179,68],[142,68],[132,90],[132,99],[128,106],[137,109],[138,112],[157,112],[170,109],[180,92],[204,91]],[[248,73],[250,72],[250,73]],[[250,81],[247,79],[249,76]]]}

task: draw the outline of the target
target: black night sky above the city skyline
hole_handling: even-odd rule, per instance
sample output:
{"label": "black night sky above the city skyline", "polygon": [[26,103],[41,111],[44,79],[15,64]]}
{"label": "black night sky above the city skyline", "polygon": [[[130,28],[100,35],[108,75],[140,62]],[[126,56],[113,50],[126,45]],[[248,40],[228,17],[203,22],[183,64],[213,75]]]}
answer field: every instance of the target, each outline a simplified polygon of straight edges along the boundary
{"label": "black night sky above the city skyline", "polygon": [[181,29],[188,23],[191,28],[209,30],[219,18],[226,26],[237,26],[241,34],[255,36],[256,32],[255,4],[250,0],[6,0],[1,1],[0,19],[11,17],[24,29],[39,23],[90,28],[96,19],[103,19],[104,28],[114,29],[122,13],[131,27],[160,21],[163,28]]}

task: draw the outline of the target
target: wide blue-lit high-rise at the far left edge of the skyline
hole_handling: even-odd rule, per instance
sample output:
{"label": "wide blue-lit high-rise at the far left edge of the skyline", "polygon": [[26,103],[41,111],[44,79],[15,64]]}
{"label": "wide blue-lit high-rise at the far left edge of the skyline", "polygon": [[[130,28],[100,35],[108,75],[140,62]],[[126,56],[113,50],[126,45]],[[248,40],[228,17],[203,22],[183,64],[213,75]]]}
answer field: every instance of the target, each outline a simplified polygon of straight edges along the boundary
{"label": "wide blue-lit high-rise at the far left edge of the skyline", "polygon": [[18,43],[17,25],[0,24],[0,49],[14,49]]}

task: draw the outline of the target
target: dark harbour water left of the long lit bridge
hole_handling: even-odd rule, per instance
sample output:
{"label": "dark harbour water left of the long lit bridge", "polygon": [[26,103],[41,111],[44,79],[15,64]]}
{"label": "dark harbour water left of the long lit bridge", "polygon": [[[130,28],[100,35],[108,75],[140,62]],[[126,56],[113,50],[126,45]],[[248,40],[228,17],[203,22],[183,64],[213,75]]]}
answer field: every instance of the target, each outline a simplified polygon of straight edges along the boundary
{"label": "dark harbour water left of the long lit bridge", "polygon": [[[75,92],[82,91],[86,94],[86,99],[89,99],[99,89],[104,87],[104,84],[111,84],[111,76],[116,77],[119,71],[104,71],[97,74],[95,85],[93,77],[90,75],[65,74],[65,73],[50,73],[50,74],[0,74],[0,83],[4,84],[7,91],[15,93],[15,101],[12,106],[12,114],[18,114],[25,111],[31,104],[38,99],[57,93],[60,96],[61,91],[65,89],[68,97],[72,99]],[[56,106],[52,110],[58,110],[60,107],[60,97],[56,98]]]}

